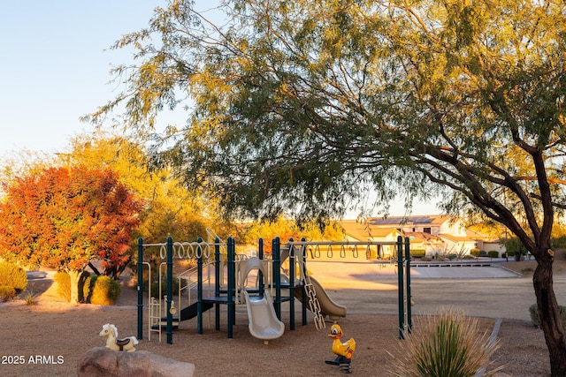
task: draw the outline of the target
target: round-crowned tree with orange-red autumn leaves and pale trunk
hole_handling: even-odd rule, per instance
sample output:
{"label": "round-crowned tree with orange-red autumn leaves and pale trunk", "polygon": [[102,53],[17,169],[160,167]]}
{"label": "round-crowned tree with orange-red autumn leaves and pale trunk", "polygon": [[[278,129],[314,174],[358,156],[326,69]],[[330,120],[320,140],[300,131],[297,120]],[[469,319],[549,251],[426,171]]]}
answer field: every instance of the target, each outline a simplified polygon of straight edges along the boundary
{"label": "round-crowned tree with orange-red autumn leaves and pale trunk", "polygon": [[142,209],[112,170],[50,168],[4,185],[0,203],[0,257],[65,270],[71,301],[91,260],[104,270],[130,260],[132,231]]}

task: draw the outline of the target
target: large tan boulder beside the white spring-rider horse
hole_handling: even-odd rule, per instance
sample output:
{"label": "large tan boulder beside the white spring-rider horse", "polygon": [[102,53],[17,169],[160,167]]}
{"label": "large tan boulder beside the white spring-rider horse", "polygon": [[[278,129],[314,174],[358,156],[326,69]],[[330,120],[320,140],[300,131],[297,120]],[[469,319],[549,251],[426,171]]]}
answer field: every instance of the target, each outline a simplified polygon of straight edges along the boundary
{"label": "large tan boulder beside the white spring-rider horse", "polygon": [[96,347],[77,363],[79,377],[192,377],[195,365],[149,351],[120,352]]}

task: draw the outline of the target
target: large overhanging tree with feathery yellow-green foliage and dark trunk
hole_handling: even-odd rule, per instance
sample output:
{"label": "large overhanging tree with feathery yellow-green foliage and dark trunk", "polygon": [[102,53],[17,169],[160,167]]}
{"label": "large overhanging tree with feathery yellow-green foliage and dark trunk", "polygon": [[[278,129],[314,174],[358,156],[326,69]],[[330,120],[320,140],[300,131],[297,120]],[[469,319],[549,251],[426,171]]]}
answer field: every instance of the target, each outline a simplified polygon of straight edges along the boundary
{"label": "large overhanging tree with feathery yellow-green foliage and dark trunk", "polygon": [[[553,375],[566,341],[550,233],[564,208],[566,4],[554,0],[233,0],[157,8],[116,48],[126,124],[150,134],[187,100],[157,160],[228,211],[335,215],[368,187],[442,192],[500,222],[538,262],[533,285]],[[220,19],[220,18],[218,18]],[[447,195],[449,193],[449,195]],[[234,212],[235,210],[240,212]]]}

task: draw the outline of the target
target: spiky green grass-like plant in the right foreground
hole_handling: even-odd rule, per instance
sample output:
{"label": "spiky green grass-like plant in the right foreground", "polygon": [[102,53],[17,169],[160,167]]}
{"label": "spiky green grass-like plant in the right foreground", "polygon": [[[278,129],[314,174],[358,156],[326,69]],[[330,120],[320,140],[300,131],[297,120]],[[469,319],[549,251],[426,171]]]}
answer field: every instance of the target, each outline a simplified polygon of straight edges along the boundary
{"label": "spiky green grass-like plant in the right foreground", "polygon": [[445,309],[416,321],[400,347],[402,357],[394,360],[387,375],[471,377],[489,363],[498,345],[480,331],[478,319]]}

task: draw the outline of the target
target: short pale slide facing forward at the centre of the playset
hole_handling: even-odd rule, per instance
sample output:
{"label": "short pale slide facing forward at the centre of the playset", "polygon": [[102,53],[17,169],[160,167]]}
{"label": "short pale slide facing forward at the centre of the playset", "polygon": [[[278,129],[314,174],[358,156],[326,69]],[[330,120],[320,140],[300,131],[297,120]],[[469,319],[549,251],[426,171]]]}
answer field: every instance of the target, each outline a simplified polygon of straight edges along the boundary
{"label": "short pale slide facing forward at the centre of the playset", "polygon": [[269,291],[264,291],[263,298],[249,297],[246,290],[243,290],[243,293],[248,307],[249,334],[262,339],[264,344],[282,336],[285,324],[277,319]]}

